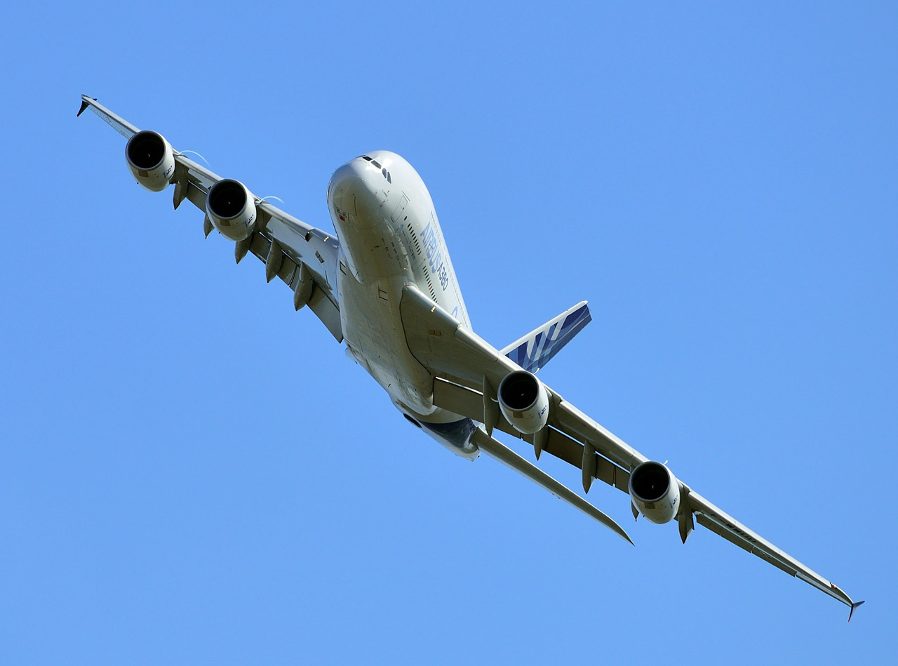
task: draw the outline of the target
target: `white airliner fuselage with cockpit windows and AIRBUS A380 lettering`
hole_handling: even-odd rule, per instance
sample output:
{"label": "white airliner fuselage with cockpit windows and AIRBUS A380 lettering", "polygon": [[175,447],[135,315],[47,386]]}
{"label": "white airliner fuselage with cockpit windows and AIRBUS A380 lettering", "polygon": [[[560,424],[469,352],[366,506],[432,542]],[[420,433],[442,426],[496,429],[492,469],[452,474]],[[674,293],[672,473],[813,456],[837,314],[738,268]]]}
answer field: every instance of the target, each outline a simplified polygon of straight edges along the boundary
{"label": "white airliner fuselage with cockpit windows and AIRBUS A380 lettering", "polygon": [[400,315],[402,289],[414,284],[471,328],[427,187],[400,155],[378,150],[334,172],[328,209],[340,240],[340,320],[348,351],[402,413],[454,452],[475,457],[471,422],[434,406],[434,377],[409,351]]}

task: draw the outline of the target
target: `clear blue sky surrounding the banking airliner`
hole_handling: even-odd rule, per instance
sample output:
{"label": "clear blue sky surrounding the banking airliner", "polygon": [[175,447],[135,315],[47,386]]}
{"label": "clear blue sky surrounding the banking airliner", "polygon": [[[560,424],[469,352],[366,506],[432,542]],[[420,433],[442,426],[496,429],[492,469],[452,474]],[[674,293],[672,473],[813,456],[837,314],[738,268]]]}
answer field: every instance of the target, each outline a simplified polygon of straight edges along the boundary
{"label": "clear blue sky surrounding the banking airliner", "polygon": [[[894,4],[14,5],[0,661],[894,662]],[[867,605],[453,457],[80,93],[327,229],[405,156],[480,335],[588,299],[541,377]]]}

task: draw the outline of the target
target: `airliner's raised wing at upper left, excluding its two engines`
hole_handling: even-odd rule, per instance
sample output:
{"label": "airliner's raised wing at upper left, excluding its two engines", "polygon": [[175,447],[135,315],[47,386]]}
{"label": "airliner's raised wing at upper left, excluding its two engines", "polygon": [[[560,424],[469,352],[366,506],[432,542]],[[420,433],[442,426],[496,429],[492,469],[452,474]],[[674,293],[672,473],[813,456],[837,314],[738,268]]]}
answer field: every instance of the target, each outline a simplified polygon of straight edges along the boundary
{"label": "airliner's raised wing at upper left, excluding its two engines", "polygon": [[[140,131],[96,100],[82,95],[78,115],[86,109],[96,113],[125,138],[131,138]],[[206,193],[213,184],[222,180],[221,176],[197,164],[187,155],[173,148],[172,150],[175,169],[171,182],[174,184],[175,209],[186,199],[205,213]],[[307,304],[334,338],[342,342],[337,290],[337,237],[305,224],[268,201],[257,199],[255,205],[259,219],[250,237],[236,244],[234,256],[237,262],[247,253],[259,257],[266,264],[266,277],[269,281],[277,276],[294,290],[296,309]],[[208,219],[205,230],[206,235],[212,230]]]}

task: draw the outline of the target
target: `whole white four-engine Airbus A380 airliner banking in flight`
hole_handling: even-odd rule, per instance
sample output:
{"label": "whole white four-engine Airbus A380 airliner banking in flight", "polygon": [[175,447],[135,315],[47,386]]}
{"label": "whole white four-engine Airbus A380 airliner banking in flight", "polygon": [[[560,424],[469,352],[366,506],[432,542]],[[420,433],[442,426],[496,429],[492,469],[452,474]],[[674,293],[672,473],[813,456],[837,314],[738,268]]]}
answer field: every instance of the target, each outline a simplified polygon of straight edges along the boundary
{"label": "whole white four-engine Airbus A380 airliner banking in flight", "polygon": [[[334,172],[327,192],[336,235],[301,222],[223,179],[82,95],[80,116],[96,113],[128,143],[125,161],[150,191],[174,186],[174,208],[189,200],[213,230],[265,263],[270,282],[293,290],[295,309],[308,306],[349,356],[383,386],[402,415],[459,456],[480,452],[532,479],[632,543],[613,519],[538,466],[493,438],[524,440],[594,479],[629,494],[633,517],[675,522],[683,543],[695,522],[850,607],[863,601],[773,546],[647,459],[546,386],[536,373],[591,317],[579,303],[498,350],[473,332],[434,203],[401,156],[378,150]],[[189,151],[188,151],[189,152]]]}

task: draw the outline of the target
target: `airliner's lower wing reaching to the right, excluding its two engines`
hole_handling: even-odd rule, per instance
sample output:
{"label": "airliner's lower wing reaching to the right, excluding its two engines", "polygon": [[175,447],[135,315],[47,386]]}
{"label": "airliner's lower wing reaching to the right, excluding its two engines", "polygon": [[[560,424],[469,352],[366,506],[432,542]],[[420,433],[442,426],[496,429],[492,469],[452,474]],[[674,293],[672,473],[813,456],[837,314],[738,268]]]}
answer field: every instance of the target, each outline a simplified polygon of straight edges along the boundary
{"label": "airliner's lower wing reaching to the right, excluding its two engines", "polygon": [[[497,410],[493,387],[499,386],[509,373],[519,371],[521,367],[459,324],[445,310],[435,307],[433,301],[418,289],[406,288],[400,310],[409,349],[436,377],[434,404],[485,423],[488,432],[495,427],[533,444],[537,458],[546,451],[579,467],[586,492],[593,479],[599,479],[630,493],[630,473],[637,466],[649,463],[647,457],[545,385],[542,386],[549,396],[547,425],[534,434],[517,431]],[[649,464],[658,466],[657,463]],[[665,466],[658,467],[666,470]],[[694,527],[694,518],[701,526],[736,546],[839,599],[851,608],[852,613],[863,603],[853,602],[832,582],[718,509],[687,484],[675,478],[674,482],[679,489],[679,507],[673,519],[679,526],[683,543]],[[631,506],[636,517],[636,504],[631,502]]]}

